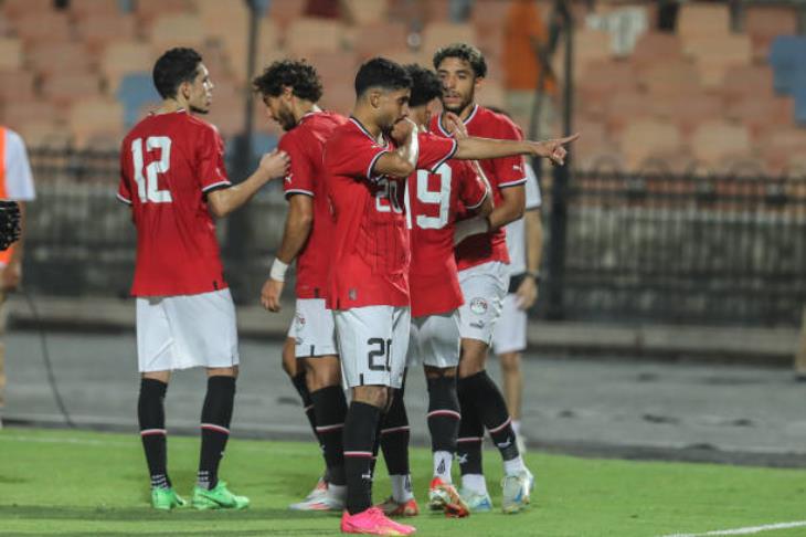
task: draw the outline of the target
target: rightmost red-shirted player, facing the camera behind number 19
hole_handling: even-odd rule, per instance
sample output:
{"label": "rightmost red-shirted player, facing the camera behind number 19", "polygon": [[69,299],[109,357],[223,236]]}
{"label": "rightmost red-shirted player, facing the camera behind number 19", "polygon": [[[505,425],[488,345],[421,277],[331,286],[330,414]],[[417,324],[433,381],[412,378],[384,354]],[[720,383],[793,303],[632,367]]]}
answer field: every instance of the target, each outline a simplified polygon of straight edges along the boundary
{"label": "rightmost red-shirted player, facing the camera behind number 19", "polygon": [[[470,136],[520,139],[506,116],[475,103],[475,91],[487,74],[487,63],[474,46],[464,43],[439,49],[434,67],[443,82],[443,107],[458,115]],[[446,114],[434,117],[432,130],[450,136]],[[556,164],[565,155],[563,144],[575,136],[545,144],[545,154]],[[529,503],[533,477],[523,464],[507,404],[485,370],[492,328],[507,294],[509,275],[503,227],[523,215],[526,171],[522,157],[481,160],[480,167],[492,187],[495,209],[486,218],[457,224],[456,259],[465,304],[459,308],[462,359],[458,396],[462,407],[458,453],[462,495],[471,510],[490,510],[492,504],[481,471],[481,442],[487,430],[503,459],[502,508],[517,513]],[[467,240],[463,241],[463,238]]]}

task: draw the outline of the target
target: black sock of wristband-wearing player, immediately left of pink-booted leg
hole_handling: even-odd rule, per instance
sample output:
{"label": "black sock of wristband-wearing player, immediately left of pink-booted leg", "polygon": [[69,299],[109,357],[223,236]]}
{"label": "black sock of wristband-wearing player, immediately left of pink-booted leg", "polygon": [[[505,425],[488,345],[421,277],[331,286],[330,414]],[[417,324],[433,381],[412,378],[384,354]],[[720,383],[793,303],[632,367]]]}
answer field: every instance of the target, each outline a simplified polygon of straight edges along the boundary
{"label": "black sock of wristband-wearing player, immediately left of pink-booted leg", "polygon": [[310,394],[319,423],[317,435],[328,466],[328,483],[344,485],[344,448],[342,435],[347,418],[347,399],[341,386],[328,386]]}

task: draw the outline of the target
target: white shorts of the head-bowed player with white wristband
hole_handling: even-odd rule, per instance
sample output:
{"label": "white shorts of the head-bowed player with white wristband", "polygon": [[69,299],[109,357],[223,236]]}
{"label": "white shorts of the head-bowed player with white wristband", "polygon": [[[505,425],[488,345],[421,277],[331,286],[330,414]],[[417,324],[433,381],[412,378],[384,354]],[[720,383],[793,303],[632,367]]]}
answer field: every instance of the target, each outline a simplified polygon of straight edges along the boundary
{"label": "white shorts of the head-bowed player with white wristband", "polygon": [[339,354],[333,312],[325,307],[324,298],[297,298],[288,337],[296,341],[294,354],[297,358]]}

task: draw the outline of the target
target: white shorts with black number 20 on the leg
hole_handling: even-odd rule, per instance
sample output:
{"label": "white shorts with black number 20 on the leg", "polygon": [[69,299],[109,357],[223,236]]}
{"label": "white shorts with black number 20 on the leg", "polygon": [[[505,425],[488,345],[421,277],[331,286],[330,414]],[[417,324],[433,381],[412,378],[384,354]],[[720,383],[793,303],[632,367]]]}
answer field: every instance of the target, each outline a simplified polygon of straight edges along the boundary
{"label": "white shorts with black number 20 on the leg", "polygon": [[403,385],[411,309],[364,306],[333,312],[348,388]]}

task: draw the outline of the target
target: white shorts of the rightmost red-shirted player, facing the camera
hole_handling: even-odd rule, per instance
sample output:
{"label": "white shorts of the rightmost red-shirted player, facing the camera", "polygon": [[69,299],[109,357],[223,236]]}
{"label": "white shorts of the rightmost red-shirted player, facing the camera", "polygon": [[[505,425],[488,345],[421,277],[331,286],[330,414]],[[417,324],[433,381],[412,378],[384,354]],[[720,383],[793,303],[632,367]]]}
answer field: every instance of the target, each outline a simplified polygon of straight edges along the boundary
{"label": "white shorts of the rightmost red-shirted player, facing the camera", "polygon": [[492,329],[501,315],[501,305],[509,287],[507,265],[491,261],[459,271],[459,285],[465,295],[465,304],[459,306],[462,337],[490,345]]}

